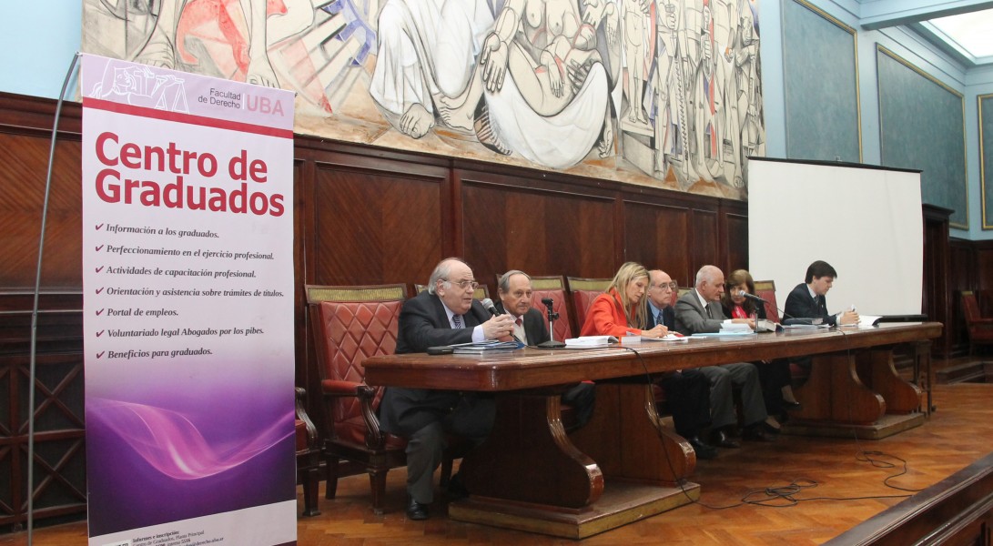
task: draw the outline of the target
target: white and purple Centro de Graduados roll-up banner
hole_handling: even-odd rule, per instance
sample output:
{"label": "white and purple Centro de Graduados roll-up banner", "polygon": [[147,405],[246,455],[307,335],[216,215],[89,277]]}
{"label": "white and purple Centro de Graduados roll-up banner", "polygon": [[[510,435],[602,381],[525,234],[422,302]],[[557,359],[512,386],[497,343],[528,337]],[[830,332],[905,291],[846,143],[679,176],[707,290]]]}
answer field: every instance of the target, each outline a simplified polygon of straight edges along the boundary
{"label": "white and purple Centro de Graduados roll-up banner", "polygon": [[296,544],[293,93],[81,81],[89,545]]}

